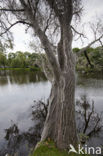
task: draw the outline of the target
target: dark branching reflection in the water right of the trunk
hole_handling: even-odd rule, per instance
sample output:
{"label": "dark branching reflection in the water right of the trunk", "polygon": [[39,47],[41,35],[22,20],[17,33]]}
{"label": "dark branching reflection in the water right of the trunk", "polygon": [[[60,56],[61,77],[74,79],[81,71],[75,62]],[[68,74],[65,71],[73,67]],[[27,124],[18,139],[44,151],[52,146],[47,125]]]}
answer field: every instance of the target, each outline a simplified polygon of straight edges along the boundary
{"label": "dark branching reflection in the water right of the trunk", "polygon": [[102,115],[95,111],[94,101],[90,102],[86,95],[76,101],[77,130],[82,136],[82,143],[103,131]]}

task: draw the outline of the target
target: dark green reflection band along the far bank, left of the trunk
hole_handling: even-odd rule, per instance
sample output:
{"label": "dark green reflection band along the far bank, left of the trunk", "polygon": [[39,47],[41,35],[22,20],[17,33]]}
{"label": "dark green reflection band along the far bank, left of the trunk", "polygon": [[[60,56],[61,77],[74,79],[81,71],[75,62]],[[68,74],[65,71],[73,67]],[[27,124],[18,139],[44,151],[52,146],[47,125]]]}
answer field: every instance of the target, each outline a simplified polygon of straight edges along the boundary
{"label": "dark green reflection band along the far bank, left of the trunk", "polygon": [[31,82],[45,81],[46,77],[41,71],[5,71],[0,73],[0,85],[11,84],[27,84]]}

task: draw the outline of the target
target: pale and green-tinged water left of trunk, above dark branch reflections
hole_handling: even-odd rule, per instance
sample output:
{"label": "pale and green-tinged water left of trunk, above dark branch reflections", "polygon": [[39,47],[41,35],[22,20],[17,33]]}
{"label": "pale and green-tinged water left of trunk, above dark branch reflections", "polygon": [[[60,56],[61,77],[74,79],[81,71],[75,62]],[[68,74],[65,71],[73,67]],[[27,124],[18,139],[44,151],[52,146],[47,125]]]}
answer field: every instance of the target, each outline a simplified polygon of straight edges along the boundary
{"label": "pale and green-tinged water left of trunk, above dark branch reflections", "polygon": [[[50,83],[41,72],[18,71],[15,73],[3,71],[1,73],[0,150],[5,149],[6,146],[6,142],[3,139],[5,136],[4,129],[7,129],[13,120],[18,125],[20,132],[27,131],[33,125],[30,117],[30,106],[33,105],[34,100],[48,97],[49,92]],[[3,156],[2,154],[0,155]]]}

